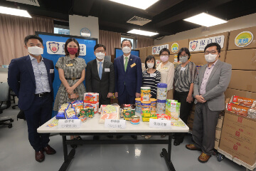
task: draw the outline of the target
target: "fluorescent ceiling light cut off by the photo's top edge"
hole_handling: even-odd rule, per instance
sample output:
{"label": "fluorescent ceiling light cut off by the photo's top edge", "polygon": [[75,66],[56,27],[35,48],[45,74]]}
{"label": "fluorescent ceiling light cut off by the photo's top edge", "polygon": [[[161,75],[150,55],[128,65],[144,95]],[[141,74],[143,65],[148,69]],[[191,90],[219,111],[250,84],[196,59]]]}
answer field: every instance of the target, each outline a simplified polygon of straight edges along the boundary
{"label": "fluorescent ceiling light cut off by the photo's top edge", "polygon": [[127,6],[132,6],[138,9],[147,9],[149,8],[149,6],[155,4],[157,1],[159,0],[128,0],[128,1],[124,1],[124,0],[109,0],[109,1],[114,1],[117,2],[119,4],[123,4],[123,5],[127,5]]}

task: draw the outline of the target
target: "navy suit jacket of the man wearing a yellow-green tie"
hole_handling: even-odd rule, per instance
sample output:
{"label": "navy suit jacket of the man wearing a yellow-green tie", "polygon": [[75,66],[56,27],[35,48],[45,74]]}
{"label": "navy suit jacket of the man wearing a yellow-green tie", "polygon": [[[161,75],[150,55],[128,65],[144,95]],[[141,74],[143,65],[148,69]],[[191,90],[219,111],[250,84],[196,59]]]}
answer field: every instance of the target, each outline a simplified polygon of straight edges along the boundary
{"label": "navy suit jacket of the man wearing a yellow-green tie", "polygon": [[141,93],[142,61],[132,54],[129,57],[127,71],[124,71],[124,56],[114,59],[114,92],[122,95],[124,83],[129,95],[134,96],[135,93]]}

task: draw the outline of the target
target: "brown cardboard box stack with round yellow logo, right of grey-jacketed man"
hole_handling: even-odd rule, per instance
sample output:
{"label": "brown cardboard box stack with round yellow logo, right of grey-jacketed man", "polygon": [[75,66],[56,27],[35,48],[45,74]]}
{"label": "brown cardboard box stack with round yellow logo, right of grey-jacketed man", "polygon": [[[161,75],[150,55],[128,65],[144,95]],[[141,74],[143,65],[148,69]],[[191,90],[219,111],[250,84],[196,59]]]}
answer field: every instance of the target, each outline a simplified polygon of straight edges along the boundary
{"label": "brown cardboard box stack with round yellow logo, right of grey-jacketed man", "polygon": [[230,31],[226,63],[232,65],[232,76],[225,98],[240,95],[256,98],[256,27]]}

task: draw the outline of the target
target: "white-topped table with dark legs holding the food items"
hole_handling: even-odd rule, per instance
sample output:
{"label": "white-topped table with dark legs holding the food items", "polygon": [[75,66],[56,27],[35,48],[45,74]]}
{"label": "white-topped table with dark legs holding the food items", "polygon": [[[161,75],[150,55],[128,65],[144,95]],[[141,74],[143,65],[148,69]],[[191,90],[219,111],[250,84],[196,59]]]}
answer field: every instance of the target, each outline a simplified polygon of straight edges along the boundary
{"label": "white-topped table with dark legs holding the food items", "polygon": [[[67,170],[71,160],[75,155],[75,149],[68,153],[68,145],[82,144],[168,144],[168,152],[165,148],[162,149],[161,157],[164,157],[166,165],[171,171],[175,171],[174,165],[171,162],[171,137],[173,133],[188,133],[188,126],[176,127],[171,126],[171,129],[150,128],[149,122],[142,122],[139,125],[132,125],[126,121],[126,128],[105,128],[104,124],[99,124],[100,115],[95,114],[94,118],[87,118],[85,123],[82,123],[80,128],[58,128],[47,127],[49,123],[55,120],[55,117],[48,120],[47,123],[38,128],[38,133],[59,133],[63,137],[63,153],[64,162],[60,167],[61,171]],[[173,120],[175,121],[175,120]],[[182,121],[179,119],[178,121]],[[167,135],[168,140],[67,140],[67,135]]]}

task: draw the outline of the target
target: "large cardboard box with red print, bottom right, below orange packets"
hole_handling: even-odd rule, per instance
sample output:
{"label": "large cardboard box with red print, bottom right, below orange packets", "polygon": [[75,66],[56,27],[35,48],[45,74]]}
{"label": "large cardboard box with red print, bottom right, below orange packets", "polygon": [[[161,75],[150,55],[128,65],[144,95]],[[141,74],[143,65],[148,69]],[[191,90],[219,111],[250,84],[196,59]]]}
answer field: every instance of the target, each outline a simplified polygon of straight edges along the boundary
{"label": "large cardboard box with red print, bottom right, below orange packets", "polygon": [[256,162],[256,120],[225,111],[220,150],[247,165]]}

